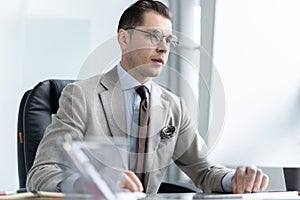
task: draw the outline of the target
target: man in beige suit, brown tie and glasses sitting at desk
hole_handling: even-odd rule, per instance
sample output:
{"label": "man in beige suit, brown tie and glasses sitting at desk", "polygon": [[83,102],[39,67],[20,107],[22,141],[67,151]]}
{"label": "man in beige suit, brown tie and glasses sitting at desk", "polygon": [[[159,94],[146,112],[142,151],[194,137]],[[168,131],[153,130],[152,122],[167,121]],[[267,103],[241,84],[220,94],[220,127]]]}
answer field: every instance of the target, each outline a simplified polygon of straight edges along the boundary
{"label": "man in beige suit, brown tie and glasses sitting at desk", "polygon": [[[160,74],[170,48],[177,43],[171,14],[164,4],[140,0],[131,5],[119,21],[118,42],[122,50],[118,66],[64,89],[60,108],[29,172],[29,189],[80,188],[82,178],[66,166],[56,147],[57,138],[64,134],[75,140],[92,135],[127,138],[129,162],[122,187],[130,191],[156,193],[171,160],[205,192],[244,193],[266,188],[267,175],[254,166],[233,171],[209,164],[205,143],[184,100],[151,81]],[[141,85],[143,95],[136,90]],[[135,119],[141,120],[138,111],[142,110],[147,113],[144,125]],[[139,134],[145,130],[143,144]]]}

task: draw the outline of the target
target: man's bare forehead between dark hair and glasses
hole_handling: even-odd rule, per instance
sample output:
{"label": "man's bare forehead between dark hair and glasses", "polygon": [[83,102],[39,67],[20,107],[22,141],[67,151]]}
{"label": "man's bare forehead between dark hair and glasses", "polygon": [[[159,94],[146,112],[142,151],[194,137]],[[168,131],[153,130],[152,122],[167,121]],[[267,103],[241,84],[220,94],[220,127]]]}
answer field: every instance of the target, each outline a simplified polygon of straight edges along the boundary
{"label": "man's bare forehead between dark hair and glasses", "polygon": [[169,19],[154,12],[146,12],[144,14],[144,27],[172,31],[172,23]]}

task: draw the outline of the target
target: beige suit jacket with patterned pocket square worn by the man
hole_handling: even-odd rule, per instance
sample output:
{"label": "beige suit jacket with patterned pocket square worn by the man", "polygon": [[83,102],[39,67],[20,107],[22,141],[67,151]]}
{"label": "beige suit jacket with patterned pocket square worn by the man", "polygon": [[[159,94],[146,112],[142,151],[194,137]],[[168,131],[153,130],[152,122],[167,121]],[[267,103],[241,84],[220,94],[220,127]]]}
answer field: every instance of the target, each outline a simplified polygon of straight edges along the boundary
{"label": "beige suit jacket with patterned pocket square worn by the man", "polygon": [[[145,160],[145,190],[156,193],[166,167],[174,161],[205,192],[222,192],[221,180],[229,172],[210,165],[205,144],[193,125],[183,99],[155,83],[151,89],[150,124]],[[66,174],[71,174],[57,148],[57,138],[66,133],[74,139],[102,135],[127,137],[126,117],[117,68],[103,75],[69,84],[62,92],[60,108],[38,147],[27,177],[27,188],[56,191]],[[160,134],[170,120],[176,128],[172,138]],[[127,168],[127,163],[124,163]]]}

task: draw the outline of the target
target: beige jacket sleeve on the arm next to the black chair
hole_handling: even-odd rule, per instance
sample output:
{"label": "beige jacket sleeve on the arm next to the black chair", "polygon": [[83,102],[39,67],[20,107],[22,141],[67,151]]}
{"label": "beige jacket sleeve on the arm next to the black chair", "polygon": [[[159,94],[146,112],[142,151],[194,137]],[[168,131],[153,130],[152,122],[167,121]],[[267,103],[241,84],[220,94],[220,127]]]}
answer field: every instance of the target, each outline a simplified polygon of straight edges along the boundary
{"label": "beige jacket sleeve on the arm next to the black chair", "polygon": [[71,165],[62,156],[57,138],[68,133],[74,139],[82,139],[85,132],[86,101],[82,89],[70,84],[63,90],[60,108],[52,116],[39,144],[34,164],[27,176],[29,190],[58,191],[57,185],[72,173]]}

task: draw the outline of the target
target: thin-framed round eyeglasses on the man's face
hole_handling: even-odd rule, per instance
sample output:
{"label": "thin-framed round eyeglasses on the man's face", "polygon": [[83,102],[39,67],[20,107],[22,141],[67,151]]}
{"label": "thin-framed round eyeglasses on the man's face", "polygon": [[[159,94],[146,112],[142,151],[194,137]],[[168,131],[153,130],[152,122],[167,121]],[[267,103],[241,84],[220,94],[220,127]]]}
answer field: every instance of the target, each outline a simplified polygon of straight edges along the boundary
{"label": "thin-framed round eyeglasses on the man's face", "polygon": [[131,29],[136,30],[136,31],[140,31],[140,32],[143,32],[143,33],[147,33],[148,37],[150,38],[153,45],[158,45],[159,43],[161,43],[163,41],[164,38],[166,38],[165,39],[166,44],[170,49],[176,48],[179,44],[176,35],[167,35],[167,36],[165,36],[163,34],[163,32],[161,30],[158,30],[158,29],[153,29],[151,31],[145,31],[145,30],[138,29],[138,28],[131,28]]}

